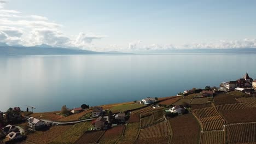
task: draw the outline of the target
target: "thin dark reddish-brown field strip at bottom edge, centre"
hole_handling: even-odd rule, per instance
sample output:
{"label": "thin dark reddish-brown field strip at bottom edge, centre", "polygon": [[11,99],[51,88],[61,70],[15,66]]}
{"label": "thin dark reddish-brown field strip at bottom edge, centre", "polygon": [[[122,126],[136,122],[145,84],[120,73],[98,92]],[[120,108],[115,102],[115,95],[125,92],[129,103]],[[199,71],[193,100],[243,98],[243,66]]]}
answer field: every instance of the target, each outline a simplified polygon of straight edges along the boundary
{"label": "thin dark reddish-brown field strip at bottom edge, centre", "polygon": [[135,143],[136,144],[148,144],[148,143],[168,144],[169,139],[170,139],[170,136],[153,137],[148,139],[138,139]]}

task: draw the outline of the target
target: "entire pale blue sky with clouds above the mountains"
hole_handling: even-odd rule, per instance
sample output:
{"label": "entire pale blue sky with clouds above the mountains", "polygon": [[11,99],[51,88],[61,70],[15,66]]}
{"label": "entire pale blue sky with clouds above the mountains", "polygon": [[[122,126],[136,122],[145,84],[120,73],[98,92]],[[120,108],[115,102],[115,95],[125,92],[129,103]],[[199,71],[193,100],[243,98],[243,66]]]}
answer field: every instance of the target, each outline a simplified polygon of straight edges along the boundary
{"label": "entire pale blue sky with clouds above the mountains", "polygon": [[256,48],[256,1],[0,0],[0,42],[92,51]]}

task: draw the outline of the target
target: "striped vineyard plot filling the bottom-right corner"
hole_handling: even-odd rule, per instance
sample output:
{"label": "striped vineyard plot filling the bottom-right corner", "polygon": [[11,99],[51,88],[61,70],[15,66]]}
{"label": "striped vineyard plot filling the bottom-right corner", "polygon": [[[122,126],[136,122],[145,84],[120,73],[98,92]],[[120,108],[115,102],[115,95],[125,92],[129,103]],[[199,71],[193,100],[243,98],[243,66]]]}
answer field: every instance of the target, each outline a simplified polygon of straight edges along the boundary
{"label": "striped vineyard plot filling the bottom-right corner", "polygon": [[226,126],[229,143],[256,143],[256,123]]}

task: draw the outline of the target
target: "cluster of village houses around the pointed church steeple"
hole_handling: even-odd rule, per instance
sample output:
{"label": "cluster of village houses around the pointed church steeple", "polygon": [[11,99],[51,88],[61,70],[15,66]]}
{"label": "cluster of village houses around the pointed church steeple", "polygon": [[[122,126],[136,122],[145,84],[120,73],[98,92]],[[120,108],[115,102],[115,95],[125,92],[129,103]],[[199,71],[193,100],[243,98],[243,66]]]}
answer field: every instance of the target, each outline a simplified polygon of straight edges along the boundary
{"label": "cluster of village houses around the pointed church steeple", "polygon": [[242,79],[220,83],[220,89],[223,91],[237,90],[251,94],[253,92],[252,90],[256,89],[256,80],[253,80],[249,77],[248,73],[246,73]]}

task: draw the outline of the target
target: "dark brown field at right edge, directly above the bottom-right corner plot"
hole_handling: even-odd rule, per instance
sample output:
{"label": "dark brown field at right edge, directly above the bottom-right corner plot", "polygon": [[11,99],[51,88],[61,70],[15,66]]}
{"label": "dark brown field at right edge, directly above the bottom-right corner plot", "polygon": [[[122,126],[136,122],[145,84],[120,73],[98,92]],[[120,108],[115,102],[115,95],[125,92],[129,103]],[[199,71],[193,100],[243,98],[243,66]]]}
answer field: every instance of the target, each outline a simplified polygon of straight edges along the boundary
{"label": "dark brown field at right edge, directly above the bottom-right corner plot", "polygon": [[238,110],[219,110],[227,123],[256,122],[256,107]]}

